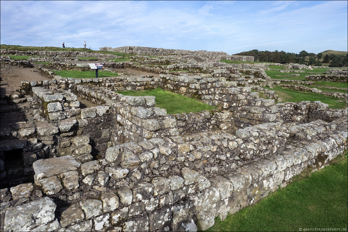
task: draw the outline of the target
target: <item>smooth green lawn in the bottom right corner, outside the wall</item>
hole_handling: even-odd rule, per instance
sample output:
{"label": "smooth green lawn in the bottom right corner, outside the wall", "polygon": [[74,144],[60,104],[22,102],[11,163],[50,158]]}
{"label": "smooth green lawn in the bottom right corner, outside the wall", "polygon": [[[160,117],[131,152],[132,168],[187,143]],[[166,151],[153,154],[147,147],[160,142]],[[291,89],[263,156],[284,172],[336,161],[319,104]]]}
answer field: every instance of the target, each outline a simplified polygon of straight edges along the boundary
{"label": "smooth green lawn in the bottom right corner, outside the wall", "polygon": [[279,189],[254,206],[229,215],[223,222],[216,219],[215,225],[206,231],[347,229],[347,173],[347,158],[335,160],[335,163]]}

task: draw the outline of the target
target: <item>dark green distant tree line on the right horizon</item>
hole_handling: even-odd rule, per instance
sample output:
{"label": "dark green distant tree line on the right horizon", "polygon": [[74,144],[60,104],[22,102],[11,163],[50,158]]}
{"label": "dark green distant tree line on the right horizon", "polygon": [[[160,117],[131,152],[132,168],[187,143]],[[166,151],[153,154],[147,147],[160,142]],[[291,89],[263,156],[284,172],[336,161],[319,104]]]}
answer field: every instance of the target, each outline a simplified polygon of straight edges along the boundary
{"label": "dark green distant tree line on the right horizon", "polygon": [[[259,50],[251,50],[251,51],[243,51],[242,53],[237,53],[234,55],[239,56],[253,56],[254,61],[261,62],[274,62],[280,64],[288,64],[288,63],[298,63],[298,64],[306,64],[306,65],[314,65],[314,66],[322,66],[323,63],[330,64],[330,67],[346,67],[347,66],[347,55],[344,56],[336,56],[334,54],[325,55],[319,53],[308,53],[303,50],[300,51],[299,54],[296,53],[286,53],[285,51],[259,51]],[[305,58],[309,56],[309,60]]]}

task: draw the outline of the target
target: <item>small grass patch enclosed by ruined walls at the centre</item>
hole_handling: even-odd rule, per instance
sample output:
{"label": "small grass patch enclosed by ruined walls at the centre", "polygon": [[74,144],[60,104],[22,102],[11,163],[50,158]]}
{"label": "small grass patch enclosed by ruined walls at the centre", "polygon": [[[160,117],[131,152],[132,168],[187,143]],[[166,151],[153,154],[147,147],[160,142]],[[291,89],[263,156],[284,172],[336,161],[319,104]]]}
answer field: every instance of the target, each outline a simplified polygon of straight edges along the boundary
{"label": "small grass patch enclosed by ruined walls at the centre", "polygon": [[212,110],[213,106],[197,101],[196,99],[175,94],[160,88],[144,91],[118,91],[125,96],[155,96],[156,107],[166,109],[167,114],[199,112]]}

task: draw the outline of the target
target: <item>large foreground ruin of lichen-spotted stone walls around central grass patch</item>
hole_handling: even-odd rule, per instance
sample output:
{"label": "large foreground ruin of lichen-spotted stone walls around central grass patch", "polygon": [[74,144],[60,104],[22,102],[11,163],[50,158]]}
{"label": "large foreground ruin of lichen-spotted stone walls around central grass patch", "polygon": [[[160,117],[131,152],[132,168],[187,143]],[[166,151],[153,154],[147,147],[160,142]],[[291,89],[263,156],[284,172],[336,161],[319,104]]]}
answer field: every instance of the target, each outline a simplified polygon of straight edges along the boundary
{"label": "large foreground ruin of lichen-spotted stone walls around central grass patch", "polygon": [[[153,97],[113,92],[157,86],[224,110],[166,115]],[[1,190],[5,231],[205,230],[347,149],[347,110],[274,104],[226,77],[57,77],[23,90],[50,121],[12,128],[35,175]],[[77,95],[98,106],[79,108]]]}

